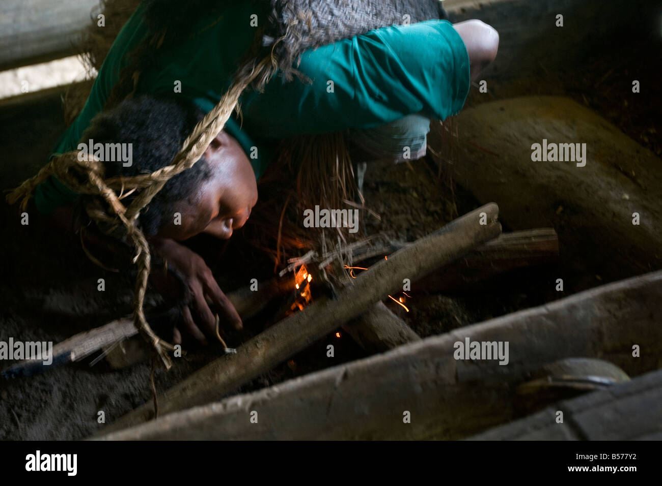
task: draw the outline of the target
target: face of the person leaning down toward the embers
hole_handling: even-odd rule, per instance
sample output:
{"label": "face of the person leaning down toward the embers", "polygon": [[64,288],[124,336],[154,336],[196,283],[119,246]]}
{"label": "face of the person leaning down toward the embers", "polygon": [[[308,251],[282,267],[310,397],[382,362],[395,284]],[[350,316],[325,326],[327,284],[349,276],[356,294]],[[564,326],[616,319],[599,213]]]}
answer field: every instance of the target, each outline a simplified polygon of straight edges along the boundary
{"label": "face of the person leaning down toward the embers", "polygon": [[222,131],[205,150],[212,175],[185,201],[175,204],[181,224],[174,218],[158,236],[178,241],[199,233],[228,239],[246,223],[258,202],[258,184],[246,153],[235,138]]}

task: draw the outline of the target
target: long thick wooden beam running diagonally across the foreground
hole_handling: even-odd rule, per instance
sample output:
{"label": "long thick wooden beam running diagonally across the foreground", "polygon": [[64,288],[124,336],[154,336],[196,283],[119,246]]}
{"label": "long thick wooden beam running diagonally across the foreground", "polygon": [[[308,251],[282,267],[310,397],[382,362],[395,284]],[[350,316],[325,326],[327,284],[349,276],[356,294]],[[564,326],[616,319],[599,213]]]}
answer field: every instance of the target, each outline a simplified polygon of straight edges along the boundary
{"label": "long thick wooden beam running diagonally across the foreground", "polygon": [[[255,393],[171,413],[115,433],[104,430],[101,438],[383,440],[471,436],[517,419],[513,388],[547,363],[585,356],[608,360],[631,376],[657,369],[662,356],[661,292],[662,271],[653,272]],[[456,360],[455,343],[466,339],[508,341],[508,364]],[[633,344],[641,346],[638,358],[632,356]],[[203,381],[202,385],[209,383]],[[258,413],[258,423],[250,421],[253,411]],[[410,423],[403,422],[405,412],[410,413]],[[608,425],[610,418],[605,415],[603,420]]]}

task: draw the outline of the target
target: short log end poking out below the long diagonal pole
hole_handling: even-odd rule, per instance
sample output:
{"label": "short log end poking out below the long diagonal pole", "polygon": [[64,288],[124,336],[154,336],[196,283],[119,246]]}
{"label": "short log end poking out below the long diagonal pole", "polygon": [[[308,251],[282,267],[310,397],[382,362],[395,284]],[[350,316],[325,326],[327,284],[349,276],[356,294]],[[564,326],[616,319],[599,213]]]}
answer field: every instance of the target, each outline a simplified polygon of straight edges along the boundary
{"label": "short log end poking out below the long diagonal pole", "polygon": [[378,302],[343,329],[367,352],[384,352],[402,344],[420,341],[420,336],[384,305]]}

